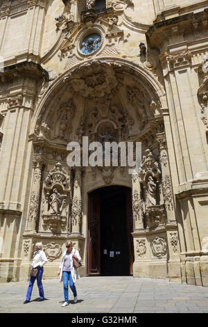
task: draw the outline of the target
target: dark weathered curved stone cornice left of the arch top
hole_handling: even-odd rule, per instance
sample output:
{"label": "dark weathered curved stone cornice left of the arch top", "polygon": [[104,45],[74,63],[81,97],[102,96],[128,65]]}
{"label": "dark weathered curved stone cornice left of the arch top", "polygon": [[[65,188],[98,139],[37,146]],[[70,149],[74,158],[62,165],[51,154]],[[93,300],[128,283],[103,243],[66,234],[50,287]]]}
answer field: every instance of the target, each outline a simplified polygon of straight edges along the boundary
{"label": "dark weathered curved stone cornice left of the arch top", "polygon": [[0,82],[5,83],[6,81],[11,81],[18,77],[29,77],[35,80],[44,77],[46,80],[49,80],[48,72],[46,72],[39,63],[24,61],[4,67],[3,72],[0,73]]}

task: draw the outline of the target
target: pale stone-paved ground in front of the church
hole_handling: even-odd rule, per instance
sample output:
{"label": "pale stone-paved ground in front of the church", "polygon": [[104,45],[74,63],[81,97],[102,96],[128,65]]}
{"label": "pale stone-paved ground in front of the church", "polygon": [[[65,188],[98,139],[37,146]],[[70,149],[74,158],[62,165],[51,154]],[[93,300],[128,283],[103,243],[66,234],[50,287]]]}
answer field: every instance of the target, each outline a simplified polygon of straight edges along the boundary
{"label": "pale stone-paved ground in front of the church", "polygon": [[23,304],[28,282],[0,284],[0,313],[139,313],[208,312],[208,288],[133,277],[84,277],[76,282],[78,303],[70,291],[70,305],[62,308],[63,285],[57,279],[43,280],[46,301],[37,302],[35,281],[31,302]]}

